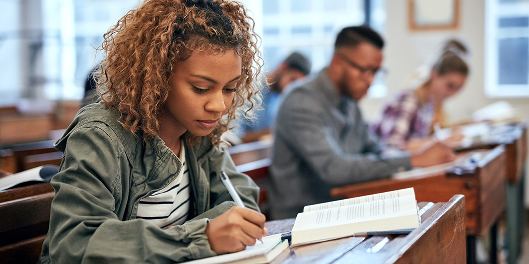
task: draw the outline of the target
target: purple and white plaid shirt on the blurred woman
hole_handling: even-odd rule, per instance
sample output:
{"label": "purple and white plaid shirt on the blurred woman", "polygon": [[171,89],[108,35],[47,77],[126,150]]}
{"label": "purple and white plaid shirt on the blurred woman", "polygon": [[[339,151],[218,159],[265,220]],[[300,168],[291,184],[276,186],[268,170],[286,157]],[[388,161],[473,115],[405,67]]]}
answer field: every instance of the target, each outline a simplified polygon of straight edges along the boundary
{"label": "purple and white plaid shirt on the blurred woman", "polygon": [[400,92],[371,123],[370,130],[378,135],[381,144],[404,150],[410,138],[430,136],[433,103],[421,106],[414,91],[409,89]]}

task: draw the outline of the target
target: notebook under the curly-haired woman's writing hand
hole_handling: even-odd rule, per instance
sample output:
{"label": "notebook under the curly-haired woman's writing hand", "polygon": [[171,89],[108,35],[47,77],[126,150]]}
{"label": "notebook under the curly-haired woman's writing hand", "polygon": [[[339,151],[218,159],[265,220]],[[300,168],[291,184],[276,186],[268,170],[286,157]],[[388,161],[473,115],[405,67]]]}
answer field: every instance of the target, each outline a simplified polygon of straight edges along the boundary
{"label": "notebook under the curly-haired woman's writing hand", "polygon": [[257,241],[253,246],[246,247],[245,250],[218,255],[215,257],[197,259],[189,261],[189,264],[260,264],[269,263],[275,259],[281,252],[288,248],[288,241],[281,240],[281,234],[269,235],[263,237],[262,243]]}

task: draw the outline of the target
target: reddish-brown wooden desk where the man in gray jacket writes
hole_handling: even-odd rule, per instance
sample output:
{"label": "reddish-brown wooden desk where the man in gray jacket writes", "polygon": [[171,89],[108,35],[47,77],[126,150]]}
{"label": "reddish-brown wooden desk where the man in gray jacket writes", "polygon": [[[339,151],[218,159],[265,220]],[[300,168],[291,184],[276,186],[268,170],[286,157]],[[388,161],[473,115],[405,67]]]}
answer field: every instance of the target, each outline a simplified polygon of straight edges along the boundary
{"label": "reddish-brown wooden desk where the man in gray jacket writes", "polygon": [[[388,179],[334,188],[331,195],[351,198],[414,187],[418,201],[441,202],[452,195],[466,199],[465,222],[470,262],[475,259],[475,237],[483,237],[505,210],[505,147],[487,150],[476,163],[454,167],[446,172]],[[493,230],[494,231],[494,230]],[[496,246],[491,252],[495,252]],[[491,256],[492,257],[492,256]]]}

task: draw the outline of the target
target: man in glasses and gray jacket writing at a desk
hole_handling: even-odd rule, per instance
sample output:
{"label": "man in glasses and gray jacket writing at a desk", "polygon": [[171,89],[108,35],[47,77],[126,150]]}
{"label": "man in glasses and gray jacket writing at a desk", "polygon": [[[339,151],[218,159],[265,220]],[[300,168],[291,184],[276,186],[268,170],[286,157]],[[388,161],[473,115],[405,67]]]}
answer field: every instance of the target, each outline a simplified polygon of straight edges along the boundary
{"label": "man in glasses and gray jacket writing at a desk", "polygon": [[293,218],[305,205],[332,201],[335,186],[453,160],[452,149],[441,143],[393,152],[368,133],[358,102],[381,68],[383,47],[369,27],[345,27],[329,66],[285,95],[270,166],[272,219]]}

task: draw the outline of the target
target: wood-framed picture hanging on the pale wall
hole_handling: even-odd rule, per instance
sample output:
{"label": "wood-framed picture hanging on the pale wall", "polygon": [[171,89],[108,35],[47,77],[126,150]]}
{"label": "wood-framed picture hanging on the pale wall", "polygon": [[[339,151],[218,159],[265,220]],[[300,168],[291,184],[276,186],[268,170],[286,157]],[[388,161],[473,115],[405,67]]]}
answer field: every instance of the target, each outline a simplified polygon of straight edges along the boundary
{"label": "wood-framed picture hanging on the pale wall", "polygon": [[408,0],[409,28],[455,30],[459,27],[460,0]]}

